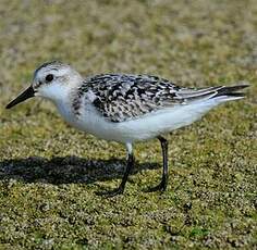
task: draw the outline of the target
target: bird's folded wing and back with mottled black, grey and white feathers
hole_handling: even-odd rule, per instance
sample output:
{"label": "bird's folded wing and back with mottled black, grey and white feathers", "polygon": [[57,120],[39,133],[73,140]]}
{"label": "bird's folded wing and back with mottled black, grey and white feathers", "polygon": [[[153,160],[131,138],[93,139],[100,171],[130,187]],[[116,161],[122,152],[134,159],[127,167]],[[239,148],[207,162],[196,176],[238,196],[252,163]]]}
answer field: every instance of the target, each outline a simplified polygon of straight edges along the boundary
{"label": "bird's folded wing and back with mottled black, grey and white feathers", "polygon": [[108,120],[124,122],[159,109],[186,103],[213,93],[215,88],[193,90],[149,75],[105,74],[85,79],[83,91],[93,91],[93,104]]}

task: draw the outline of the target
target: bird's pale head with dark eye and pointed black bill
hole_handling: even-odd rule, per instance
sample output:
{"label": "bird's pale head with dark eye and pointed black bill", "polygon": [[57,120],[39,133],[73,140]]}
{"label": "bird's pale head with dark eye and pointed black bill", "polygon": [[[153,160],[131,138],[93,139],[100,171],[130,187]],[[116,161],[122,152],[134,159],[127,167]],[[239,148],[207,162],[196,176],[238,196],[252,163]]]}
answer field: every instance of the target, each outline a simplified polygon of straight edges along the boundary
{"label": "bird's pale head with dark eye and pointed black bill", "polygon": [[81,82],[82,76],[70,65],[57,61],[44,63],[35,71],[32,85],[11,101],[7,109],[32,97],[44,97],[56,102],[65,98]]}

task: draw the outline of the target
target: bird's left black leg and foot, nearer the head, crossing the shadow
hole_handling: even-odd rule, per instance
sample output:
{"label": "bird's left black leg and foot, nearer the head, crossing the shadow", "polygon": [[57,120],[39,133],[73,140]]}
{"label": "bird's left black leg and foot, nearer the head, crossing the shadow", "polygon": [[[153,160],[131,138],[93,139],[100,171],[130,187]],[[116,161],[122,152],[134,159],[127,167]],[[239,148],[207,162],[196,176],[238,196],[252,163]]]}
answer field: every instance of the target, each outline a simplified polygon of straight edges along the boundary
{"label": "bird's left black leg and foot, nearer the head, crossing the shadow", "polygon": [[122,177],[122,182],[121,182],[120,186],[113,190],[110,190],[110,191],[97,192],[97,195],[113,197],[113,196],[123,193],[123,191],[125,189],[127,177],[128,177],[131,171],[133,170],[134,162],[135,162],[135,158],[134,158],[133,153],[131,152],[131,153],[128,153],[126,170],[125,170],[125,173]]}

